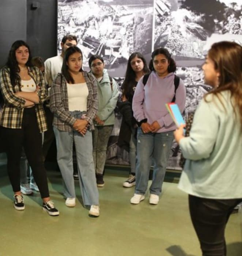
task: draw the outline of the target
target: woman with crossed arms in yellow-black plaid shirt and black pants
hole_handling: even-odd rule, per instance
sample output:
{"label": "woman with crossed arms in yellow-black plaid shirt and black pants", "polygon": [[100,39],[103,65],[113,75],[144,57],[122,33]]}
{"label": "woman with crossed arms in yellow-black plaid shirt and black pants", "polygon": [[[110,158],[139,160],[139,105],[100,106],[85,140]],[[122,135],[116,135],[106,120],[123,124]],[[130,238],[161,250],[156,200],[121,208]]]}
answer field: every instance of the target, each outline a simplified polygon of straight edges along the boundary
{"label": "woman with crossed arms in yellow-black plaid shirt and black pants", "polygon": [[43,200],[42,208],[49,215],[59,215],[49,197],[42,154],[42,136],[46,131],[43,102],[46,88],[42,72],[31,64],[30,48],[24,41],[12,44],[5,67],[0,71],[0,88],[4,98],[0,120],[7,153],[7,170],[14,191],[14,207],[24,210],[20,192],[20,156],[24,148]]}

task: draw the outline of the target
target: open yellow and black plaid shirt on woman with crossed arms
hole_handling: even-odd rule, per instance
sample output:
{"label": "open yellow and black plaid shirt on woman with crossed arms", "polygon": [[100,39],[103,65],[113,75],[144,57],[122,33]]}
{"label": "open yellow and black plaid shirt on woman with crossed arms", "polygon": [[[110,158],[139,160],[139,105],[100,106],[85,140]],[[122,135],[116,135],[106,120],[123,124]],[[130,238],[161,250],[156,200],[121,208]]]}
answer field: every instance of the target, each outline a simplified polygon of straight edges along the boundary
{"label": "open yellow and black plaid shirt on woman with crossed arms", "polygon": [[[39,103],[35,103],[34,108],[37,116],[37,122],[40,132],[47,130],[47,123],[43,102],[46,99],[47,91],[42,72],[36,67],[27,67],[29,75],[33,78],[36,86],[39,86],[37,94]],[[10,68],[3,67],[0,71],[0,89],[4,98],[4,105],[0,125],[6,128],[21,129],[25,99],[15,95],[21,91],[21,78],[18,75],[15,86],[12,86],[10,80]]]}

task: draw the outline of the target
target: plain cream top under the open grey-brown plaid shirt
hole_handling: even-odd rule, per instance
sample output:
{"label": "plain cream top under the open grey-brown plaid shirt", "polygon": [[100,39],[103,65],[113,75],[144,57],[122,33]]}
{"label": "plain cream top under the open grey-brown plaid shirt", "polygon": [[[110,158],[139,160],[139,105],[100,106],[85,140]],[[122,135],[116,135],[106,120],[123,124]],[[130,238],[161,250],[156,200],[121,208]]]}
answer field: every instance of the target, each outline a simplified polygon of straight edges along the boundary
{"label": "plain cream top under the open grey-brown plaid shirt", "polygon": [[87,97],[89,91],[86,83],[67,83],[69,111],[87,111]]}

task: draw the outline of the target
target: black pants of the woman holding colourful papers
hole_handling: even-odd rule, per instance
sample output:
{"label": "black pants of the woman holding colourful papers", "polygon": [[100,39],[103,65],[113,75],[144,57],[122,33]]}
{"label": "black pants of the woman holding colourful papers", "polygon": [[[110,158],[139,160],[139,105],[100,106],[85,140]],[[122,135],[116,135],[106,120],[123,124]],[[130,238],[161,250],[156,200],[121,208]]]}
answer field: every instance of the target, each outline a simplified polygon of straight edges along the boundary
{"label": "black pants of the woman holding colourful papers", "polygon": [[189,210],[203,256],[226,256],[224,230],[242,199],[206,199],[189,195]]}

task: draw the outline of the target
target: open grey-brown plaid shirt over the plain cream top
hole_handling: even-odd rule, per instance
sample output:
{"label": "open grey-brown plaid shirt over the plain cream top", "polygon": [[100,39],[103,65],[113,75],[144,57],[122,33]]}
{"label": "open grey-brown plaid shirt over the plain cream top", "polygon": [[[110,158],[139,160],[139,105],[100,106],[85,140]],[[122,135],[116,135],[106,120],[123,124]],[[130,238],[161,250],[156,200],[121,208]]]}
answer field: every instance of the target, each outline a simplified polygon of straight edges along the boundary
{"label": "open grey-brown plaid shirt over the plain cream top", "polygon": [[[98,111],[97,81],[93,75],[83,71],[87,83],[87,114],[85,120],[94,129],[93,118]],[[50,111],[54,113],[53,125],[60,131],[71,132],[76,118],[72,117],[68,107],[67,80],[64,75],[58,73],[50,87]]]}

